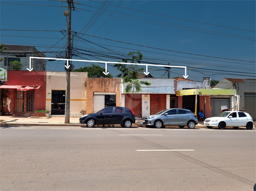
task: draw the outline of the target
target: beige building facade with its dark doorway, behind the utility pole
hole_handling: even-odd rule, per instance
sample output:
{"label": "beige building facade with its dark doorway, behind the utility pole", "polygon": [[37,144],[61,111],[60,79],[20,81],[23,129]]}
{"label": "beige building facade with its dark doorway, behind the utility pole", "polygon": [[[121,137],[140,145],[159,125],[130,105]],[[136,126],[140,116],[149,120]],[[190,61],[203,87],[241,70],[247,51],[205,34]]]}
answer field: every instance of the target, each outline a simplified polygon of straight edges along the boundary
{"label": "beige building facade with its dark doorway, behind the utility pole", "polygon": [[[87,72],[70,73],[70,115],[86,113]],[[65,115],[66,72],[47,71],[46,110],[51,115]]]}

